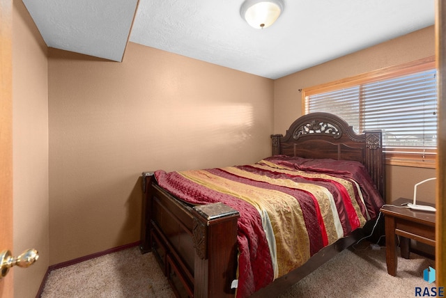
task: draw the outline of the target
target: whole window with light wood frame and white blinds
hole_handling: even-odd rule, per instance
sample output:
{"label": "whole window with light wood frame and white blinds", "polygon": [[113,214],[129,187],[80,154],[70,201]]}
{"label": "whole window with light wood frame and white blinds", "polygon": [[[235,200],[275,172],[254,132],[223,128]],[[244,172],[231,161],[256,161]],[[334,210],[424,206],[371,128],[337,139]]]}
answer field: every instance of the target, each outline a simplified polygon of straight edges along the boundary
{"label": "whole window with light wood frame and white blinds", "polygon": [[434,58],[302,91],[305,113],[337,114],[356,132],[383,130],[386,163],[435,167],[437,86]]}

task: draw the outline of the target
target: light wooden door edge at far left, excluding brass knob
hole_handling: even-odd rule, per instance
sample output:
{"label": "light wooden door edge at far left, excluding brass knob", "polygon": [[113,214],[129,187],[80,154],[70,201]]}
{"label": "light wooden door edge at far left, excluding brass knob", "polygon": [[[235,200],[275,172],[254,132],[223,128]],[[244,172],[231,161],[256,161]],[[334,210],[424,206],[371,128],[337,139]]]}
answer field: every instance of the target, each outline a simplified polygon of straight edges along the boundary
{"label": "light wooden door edge at far left, excluding brass knob", "polygon": [[[0,0],[0,251],[13,249],[13,1]],[[0,297],[13,297],[13,274]]]}

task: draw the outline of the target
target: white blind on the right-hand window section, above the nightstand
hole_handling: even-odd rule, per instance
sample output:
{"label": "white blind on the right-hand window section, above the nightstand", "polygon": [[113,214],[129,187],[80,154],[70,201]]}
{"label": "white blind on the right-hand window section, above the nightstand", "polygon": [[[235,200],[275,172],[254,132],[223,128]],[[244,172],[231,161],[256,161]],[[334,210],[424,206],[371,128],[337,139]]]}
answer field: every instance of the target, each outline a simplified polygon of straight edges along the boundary
{"label": "white blind on the right-hand window section, above the nightstand", "polygon": [[364,130],[385,132],[384,146],[436,148],[436,71],[364,85]]}

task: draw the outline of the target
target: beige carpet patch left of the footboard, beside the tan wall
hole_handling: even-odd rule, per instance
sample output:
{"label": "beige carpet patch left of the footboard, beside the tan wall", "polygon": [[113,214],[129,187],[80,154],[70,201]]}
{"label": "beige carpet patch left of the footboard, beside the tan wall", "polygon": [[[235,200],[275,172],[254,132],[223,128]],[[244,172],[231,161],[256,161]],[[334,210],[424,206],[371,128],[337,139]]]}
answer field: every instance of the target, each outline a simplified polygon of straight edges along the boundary
{"label": "beige carpet patch left of the footboard, beside the tan wall", "polygon": [[53,270],[40,297],[175,297],[152,253],[132,247]]}

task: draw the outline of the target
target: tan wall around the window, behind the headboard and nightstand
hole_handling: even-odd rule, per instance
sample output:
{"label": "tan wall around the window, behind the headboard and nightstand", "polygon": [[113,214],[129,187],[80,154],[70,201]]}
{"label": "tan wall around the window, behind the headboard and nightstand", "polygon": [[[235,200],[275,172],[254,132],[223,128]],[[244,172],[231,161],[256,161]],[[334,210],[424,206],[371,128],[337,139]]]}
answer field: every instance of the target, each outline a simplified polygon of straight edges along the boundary
{"label": "tan wall around the window, behind the headboard and nightstand", "polygon": [[[360,75],[391,65],[414,61],[435,54],[433,26],[415,31],[380,45],[334,59],[327,63],[275,80],[274,132],[284,134],[289,124],[302,115],[299,89]],[[400,196],[412,198],[413,185],[435,177],[433,169],[387,166],[387,201]],[[433,186],[420,189],[417,198],[434,202]]]}

